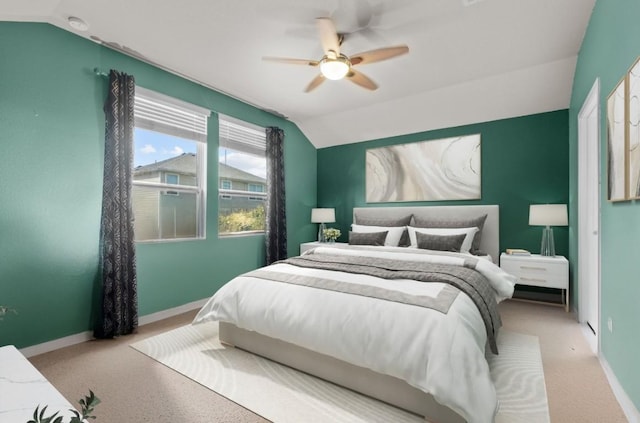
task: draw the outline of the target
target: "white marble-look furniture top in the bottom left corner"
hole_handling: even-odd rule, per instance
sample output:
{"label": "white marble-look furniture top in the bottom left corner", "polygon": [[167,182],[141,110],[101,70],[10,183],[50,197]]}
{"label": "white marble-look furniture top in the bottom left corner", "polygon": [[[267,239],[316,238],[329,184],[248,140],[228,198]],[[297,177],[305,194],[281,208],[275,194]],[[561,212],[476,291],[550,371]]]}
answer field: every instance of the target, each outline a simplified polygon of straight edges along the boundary
{"label": "white marble-look furniture top in the bottom left corner", "polygon": [[74,407],[13,345],[0,347],[0,423],[24,423],[37,406],[46,415],[60,411],[69,421]]}

